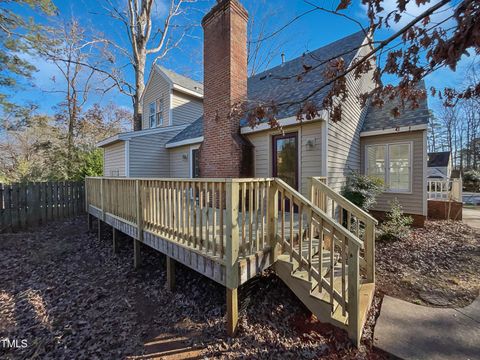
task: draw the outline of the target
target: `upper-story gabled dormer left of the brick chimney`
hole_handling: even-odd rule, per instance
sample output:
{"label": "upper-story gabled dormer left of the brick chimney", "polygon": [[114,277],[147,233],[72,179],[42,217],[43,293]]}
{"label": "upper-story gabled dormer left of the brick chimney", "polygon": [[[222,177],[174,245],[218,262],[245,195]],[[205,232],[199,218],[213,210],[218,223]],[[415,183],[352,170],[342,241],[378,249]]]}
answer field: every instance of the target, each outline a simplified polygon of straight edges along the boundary
{"label": "upper-story gabled dormer left of the brick chimney", "polygon": [[142,130],[189,124],[203,114],[203,85],[154,65],[141,101]]}

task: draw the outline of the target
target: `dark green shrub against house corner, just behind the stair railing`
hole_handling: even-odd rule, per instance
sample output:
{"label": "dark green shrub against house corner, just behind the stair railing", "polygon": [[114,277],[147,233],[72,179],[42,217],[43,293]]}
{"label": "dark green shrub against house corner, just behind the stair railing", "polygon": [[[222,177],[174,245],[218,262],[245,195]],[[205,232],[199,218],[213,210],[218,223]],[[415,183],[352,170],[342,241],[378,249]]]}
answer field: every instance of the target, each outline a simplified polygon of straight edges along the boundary
{"label": "dark green shrub against house corner, just behind the stair railing", "polygon": [[375,205],[377,196],[384,190],[383,180],[352,172],[342,188],[342,195],[365,211]]}

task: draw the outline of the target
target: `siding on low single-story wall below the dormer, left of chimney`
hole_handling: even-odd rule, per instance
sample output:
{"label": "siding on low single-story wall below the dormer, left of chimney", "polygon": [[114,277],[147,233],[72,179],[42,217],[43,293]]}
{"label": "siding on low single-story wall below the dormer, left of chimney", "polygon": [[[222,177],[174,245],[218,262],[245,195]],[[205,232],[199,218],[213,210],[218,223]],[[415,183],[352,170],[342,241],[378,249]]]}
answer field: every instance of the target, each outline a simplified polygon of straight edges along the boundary
{"label": "siding on low single-story wall below the dormer, left of chimney", "polygon": [[130,177],[170,177],[170,155],[165,144],[180,131],[130,139]]}

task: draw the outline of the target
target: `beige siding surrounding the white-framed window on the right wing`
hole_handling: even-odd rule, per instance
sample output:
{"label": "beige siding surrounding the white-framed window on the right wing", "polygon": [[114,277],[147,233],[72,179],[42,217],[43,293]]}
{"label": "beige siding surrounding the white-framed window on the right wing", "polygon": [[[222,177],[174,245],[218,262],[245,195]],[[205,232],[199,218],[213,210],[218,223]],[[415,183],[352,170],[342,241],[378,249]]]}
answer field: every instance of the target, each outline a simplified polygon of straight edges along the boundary
{"label": "beige siding surrounding the white-framed window on the right wing", "polygon": [[397,198],[403,206],[403,211],[408,214],[424,214],[424,191],[425,178],[424,166],[426,166],[426,149],[424,148],[425,130],[404,132],[388,135],[375,135],[362,137],[362,172],[365,173],[366,146],[394,144],[399,142],[412,143],[412,192],[411,193],[389,193],[384,192],[377,198],[377,204],[374,210],[390,210],[390,201]]}

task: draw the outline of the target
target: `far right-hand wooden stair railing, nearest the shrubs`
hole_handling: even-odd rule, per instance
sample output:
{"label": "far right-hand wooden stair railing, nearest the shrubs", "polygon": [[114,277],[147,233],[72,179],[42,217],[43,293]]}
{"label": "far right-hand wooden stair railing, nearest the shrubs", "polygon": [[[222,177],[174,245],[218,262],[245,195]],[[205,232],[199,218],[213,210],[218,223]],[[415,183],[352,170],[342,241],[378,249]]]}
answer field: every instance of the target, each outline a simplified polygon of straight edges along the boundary
{"label": "far right-hand wooden stair railing, nearest the shrubs", "polygon": [[360,253],[360,265],[366,282],[375,282],[375,227],[377,220],[370,214],[335,192],[325,178],[312,178],[310,199],[327,216],[342,224],[360,239],[364,249]]}

